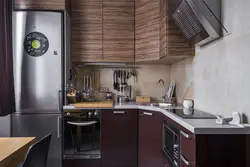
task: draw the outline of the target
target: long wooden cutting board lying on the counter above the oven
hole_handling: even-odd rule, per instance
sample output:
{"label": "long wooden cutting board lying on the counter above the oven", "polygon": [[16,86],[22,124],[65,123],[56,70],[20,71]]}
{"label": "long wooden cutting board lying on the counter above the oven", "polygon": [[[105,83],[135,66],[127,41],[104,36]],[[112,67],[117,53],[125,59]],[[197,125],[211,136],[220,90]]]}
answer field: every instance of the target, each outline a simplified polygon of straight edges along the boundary
{"label": "long wooden cutting board lying on the counter above the oven", "polygon": [[74,104],[75,108],[112,108],[113,101],[99,101],[99,102],[80,102]]}

